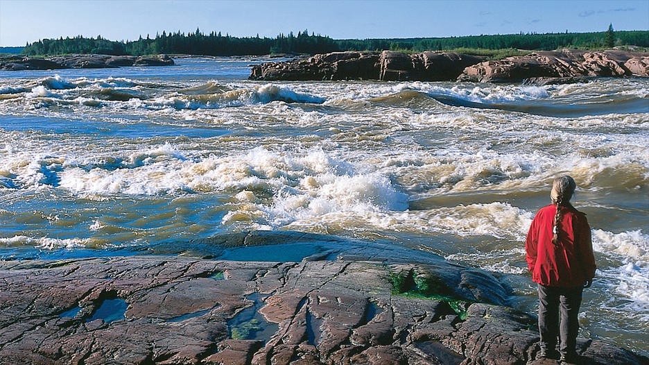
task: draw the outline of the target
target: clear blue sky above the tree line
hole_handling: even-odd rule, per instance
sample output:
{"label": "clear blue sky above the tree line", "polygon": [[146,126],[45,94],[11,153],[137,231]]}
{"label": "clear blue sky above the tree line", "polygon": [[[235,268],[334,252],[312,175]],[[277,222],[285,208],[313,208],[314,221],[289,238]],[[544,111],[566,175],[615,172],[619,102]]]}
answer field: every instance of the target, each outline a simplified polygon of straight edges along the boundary
{"label": "clear blue sky above the tree line", "polygon": [[0,0],[0,46],[101,35],[137,40],[196,28],[237,37],[334,39],[649,30],[649,0]]}

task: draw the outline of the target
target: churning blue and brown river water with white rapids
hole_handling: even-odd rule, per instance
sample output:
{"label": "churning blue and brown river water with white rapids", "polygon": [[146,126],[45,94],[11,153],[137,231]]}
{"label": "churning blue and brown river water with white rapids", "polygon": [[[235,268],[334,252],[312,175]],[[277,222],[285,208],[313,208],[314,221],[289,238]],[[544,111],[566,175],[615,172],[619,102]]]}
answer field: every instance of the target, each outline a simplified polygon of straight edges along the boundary
{"label": "churning blue and brown river water with white rapids", "polygon": [[0,260],[299,230],[493,271],[535,312],[524,239],[567,173],[598,264],[582,335],[649,355],[649,80],[265,83],[259,58],[176,61],[0,72]]}

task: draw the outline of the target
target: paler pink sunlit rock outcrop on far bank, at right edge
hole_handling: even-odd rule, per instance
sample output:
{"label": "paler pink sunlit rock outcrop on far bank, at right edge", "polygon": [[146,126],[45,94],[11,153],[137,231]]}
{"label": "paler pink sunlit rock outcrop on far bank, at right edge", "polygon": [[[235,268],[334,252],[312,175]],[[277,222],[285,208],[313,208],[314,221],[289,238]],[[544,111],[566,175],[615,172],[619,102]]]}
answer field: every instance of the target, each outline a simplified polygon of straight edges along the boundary
{"label": "paler pink sunlit rock outcrop on far bank, at right edge", "polygon": [[628,51],[537,51],[469,66],[460,81],[519,82],[530,78],[649,77],[649,53]]}

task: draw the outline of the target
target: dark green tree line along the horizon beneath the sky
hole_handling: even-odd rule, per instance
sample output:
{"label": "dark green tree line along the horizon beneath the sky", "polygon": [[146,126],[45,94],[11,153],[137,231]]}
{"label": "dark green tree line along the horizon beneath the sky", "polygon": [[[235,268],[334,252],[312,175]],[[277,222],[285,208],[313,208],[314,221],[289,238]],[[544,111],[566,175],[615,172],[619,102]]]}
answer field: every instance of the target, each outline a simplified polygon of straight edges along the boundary
{"label": "dark green tree line along the horizon beneath the sky", "polygon": [[524,49],[551,51],[561,48],[600,49],[617,45],[649,47],[649,31],[613,31],[594,33],[519,33],[508,35],[471,35],[465,37],[426,37],[367,40],[333,40],[308,31],[269,37],[232,37],[220,32],[157,34],[138,40],[118,42],[96,38],[60,37],[28,43],[26,56],[53,56],[71,53],[101,53],[144,56],[170,53],[203,56],[263,56],[272,53],[329,53],[333,51],[448,51],[453,49]]}

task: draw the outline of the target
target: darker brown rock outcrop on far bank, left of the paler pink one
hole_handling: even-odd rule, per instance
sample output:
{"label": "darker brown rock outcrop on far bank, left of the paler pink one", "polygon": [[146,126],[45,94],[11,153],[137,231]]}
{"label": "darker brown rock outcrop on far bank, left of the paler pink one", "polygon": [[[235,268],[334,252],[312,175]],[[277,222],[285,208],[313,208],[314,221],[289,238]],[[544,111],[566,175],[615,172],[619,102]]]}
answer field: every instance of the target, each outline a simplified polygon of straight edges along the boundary
{"label": "darker brown rock outcrop on far bank, left of the paler pink one", "polygon": [[252,68],[252,80],[454,80],[485,60],[458,53],[334,52]]}

